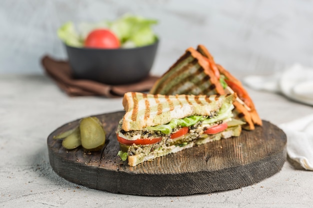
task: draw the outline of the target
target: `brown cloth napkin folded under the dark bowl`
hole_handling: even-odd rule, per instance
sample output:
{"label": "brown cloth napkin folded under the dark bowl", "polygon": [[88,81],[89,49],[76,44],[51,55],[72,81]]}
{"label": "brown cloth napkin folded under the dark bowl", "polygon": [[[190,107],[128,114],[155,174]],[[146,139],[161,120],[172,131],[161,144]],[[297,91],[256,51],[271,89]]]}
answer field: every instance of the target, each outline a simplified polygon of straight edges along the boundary
{"label": "brown cloth napkin folded under the dark bowl", "polygon": [[158,79],[157,76],[148,76],[144,80],[133,84],[107,85],[92,80],[74,79],[67,61],[54,60],[46,55],[41,59],[41,64],[45,72],[54,79],[58,87],[69,96],[120,97],[129,91],[147,91]]}

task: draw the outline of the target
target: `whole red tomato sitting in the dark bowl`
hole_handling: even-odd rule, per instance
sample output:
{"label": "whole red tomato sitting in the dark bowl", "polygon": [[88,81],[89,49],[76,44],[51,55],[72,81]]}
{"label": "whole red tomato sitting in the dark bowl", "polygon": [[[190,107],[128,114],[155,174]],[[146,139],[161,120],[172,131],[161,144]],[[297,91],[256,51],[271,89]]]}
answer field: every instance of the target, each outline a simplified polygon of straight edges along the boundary
{"label": "whole red tomato sitting in the dark bowl", "polygon": [[119,48],[120,42],[110,30],[95,29],[88,34],[84,46],[90,48]]}

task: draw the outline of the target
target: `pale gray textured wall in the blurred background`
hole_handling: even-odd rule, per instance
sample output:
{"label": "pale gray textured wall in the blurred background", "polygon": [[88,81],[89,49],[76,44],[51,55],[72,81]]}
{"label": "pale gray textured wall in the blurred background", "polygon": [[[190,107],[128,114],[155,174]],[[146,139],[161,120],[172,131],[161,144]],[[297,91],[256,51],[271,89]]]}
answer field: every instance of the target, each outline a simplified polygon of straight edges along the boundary
{"label": "pale gray textured wall in the blurred background", "polygon": [[0,0],[0,73],[42,73],[43,54],[66,58],[55,33],[63,22],[125,12],[159,19],[154,74],[198,43],[228,70],[313,65],[310,0]]}

